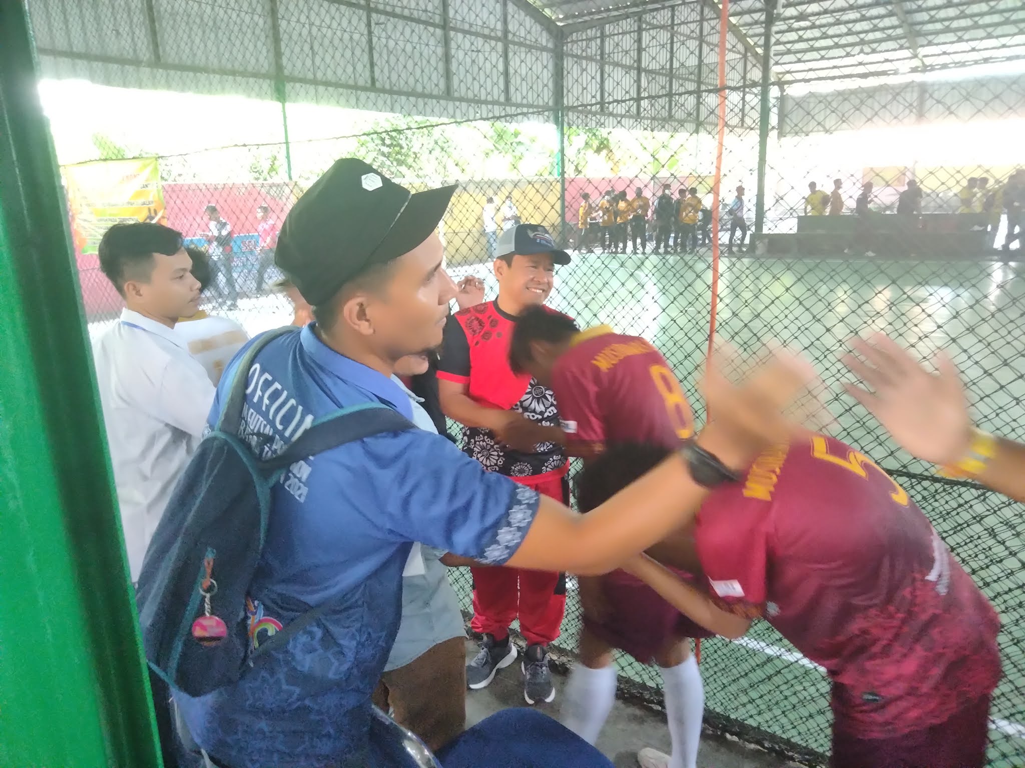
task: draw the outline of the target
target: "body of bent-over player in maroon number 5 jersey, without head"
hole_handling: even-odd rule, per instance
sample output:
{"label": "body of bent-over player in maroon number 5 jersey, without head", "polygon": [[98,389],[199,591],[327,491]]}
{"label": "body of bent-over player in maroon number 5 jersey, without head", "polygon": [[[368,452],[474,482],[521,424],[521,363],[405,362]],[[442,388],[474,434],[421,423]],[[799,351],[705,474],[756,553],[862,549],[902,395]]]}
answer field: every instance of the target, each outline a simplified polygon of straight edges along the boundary
{"label": "body of bent-over player in maroon number 5 jersey, without head", "polygon": [[832,681],[833,768],[981,768],[999,620],[903,488],[813,435],[769,449],[695,527],[709,594],[627,566],[712,632],[762,617]]}

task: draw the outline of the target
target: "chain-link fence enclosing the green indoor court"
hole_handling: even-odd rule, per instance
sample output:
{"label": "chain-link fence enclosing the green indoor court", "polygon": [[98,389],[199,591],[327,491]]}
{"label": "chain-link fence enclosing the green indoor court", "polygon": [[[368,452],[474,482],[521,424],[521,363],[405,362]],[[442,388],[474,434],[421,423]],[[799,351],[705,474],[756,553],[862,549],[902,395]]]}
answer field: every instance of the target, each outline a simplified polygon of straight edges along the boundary
{"label": "chain-link fence enclosing the green indoor court", "polygon": [[[687,387],[715,291],[717,335],[808,351],[835,393],[837,436],[901,481],[997,607],[991,765],[1021,765],[1021,509],[900,453],[839,394],[836,359],[866,330],[922,357],[944,347],[980,426],[1025,438],[1021,3],[735,0],[728,18],[710,0],[29,5],[91,333],[120,308],[95,243],[119,218],[117,184],[149,158],[135,202],[212,247],[207,308],[250,334],[289,322],[276,229],[345,156],[414,188],[457,181],[441,232],[449,270],[483,278],[488,298],[495,233],[548,226],[575,249],[550,303],[647,337]],[[230,238],[217,243],[211,220]],[[454,583],[468,610],[468,573]],[[570,586],[559,644],[571,655]],[[821,669],[765,624],[701,650],[714,727],[825,760]],[[657,670],[617,663],[624,694],[657,706]]]}

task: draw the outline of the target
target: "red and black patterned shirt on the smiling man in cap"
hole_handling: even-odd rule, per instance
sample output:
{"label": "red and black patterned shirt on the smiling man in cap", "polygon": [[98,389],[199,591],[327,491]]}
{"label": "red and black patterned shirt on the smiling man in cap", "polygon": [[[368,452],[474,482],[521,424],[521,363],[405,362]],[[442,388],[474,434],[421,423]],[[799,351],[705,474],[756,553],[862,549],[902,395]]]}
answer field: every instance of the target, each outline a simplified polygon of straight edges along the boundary
{"label": "red and black patterned shirt on the smiling man in cap", "polygon": [[[516,375],[509,367],[509,344],[516,317],[495,301],[463,309],[448,318],[442,342],[438,378],[466,385],[475,402],[516,411],[544,426],[559,426],[556,396],[530,374]],[[495,440],[490,429],[463,427],[462,450],[485,469],[510,477],[566,473],[562,446],[542,442],[532,453],[514,451]]]}

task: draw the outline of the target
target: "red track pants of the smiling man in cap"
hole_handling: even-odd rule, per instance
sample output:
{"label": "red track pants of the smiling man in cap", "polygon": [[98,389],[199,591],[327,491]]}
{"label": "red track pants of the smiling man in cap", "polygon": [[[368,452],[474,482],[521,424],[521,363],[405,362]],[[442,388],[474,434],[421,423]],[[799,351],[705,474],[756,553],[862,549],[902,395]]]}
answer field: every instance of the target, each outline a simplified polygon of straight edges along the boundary
{"label": "red track pants of the smiling man in cap", "polygon": [[[514,477],[538,493],[567,503],[565,475]],[[474,574],[475,632],[503,640],[514,618],[520,618],[520,632],[528,644],[547,645],[559,637],[566,611],[566,574],[520,568],[470,568]]]}

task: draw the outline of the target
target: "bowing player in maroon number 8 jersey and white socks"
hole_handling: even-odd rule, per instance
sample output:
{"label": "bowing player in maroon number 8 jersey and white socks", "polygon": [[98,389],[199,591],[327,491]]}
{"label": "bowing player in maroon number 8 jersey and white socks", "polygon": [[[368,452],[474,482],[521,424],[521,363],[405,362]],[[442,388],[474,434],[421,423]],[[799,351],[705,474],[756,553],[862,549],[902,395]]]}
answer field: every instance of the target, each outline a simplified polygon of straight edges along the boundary
{"label": "bowing player in maroon number 8 jersey and white socks", "polygon": [[[655,446],[651,469],[694,433],[694,419],[669,364],[647,340],[623,336],[608,326],[582,333],[570,317],[540,307],[524,310],[512,332],[509,365],[550,386],[559,402],[567,451],[583,456],[577,502],[589,512],[625,487],[616,472],[593,457],[607,446],[643,443],[632,461],[644,461],[645,446]],[[652,450],[648,447],[647,454]],[[640,476],[640,472],[637,476]],[[675,539],[693,550],[689,531],[649,552],[676,551]],[[682,578],[691,578],[679,570]],[[566,686],[565,725],[594,743],[616,695],[614,648],[641,664],[660,668],[672,755],[643,750],[642,768],[695,768],[704,688],[690,638],[711,633],[698,627],[650,587],[623,570],[578,578],[583,606],[579,664]]]}

